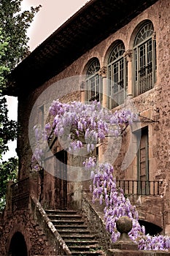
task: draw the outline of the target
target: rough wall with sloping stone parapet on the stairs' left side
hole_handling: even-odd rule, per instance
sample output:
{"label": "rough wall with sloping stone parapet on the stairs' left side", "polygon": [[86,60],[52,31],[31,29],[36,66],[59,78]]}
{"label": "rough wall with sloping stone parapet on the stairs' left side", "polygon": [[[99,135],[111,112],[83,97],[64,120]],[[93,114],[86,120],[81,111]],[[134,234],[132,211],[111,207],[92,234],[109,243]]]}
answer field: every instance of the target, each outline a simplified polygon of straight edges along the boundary
{"label": "rough wall with sloping stone parapet on the stairs' left side", "polygon": [[[47,217],[44,208],[34,197],[30,198],[30,208],[27,210],[16,209],[4,211],[1,214],[0,255],[9,255],[12,238],[18,233],[24,238],[29,256],[71,255],[68,246]],[[15,244],[15,246],[21,248],[23,242],[20,241],[20,244]]]}

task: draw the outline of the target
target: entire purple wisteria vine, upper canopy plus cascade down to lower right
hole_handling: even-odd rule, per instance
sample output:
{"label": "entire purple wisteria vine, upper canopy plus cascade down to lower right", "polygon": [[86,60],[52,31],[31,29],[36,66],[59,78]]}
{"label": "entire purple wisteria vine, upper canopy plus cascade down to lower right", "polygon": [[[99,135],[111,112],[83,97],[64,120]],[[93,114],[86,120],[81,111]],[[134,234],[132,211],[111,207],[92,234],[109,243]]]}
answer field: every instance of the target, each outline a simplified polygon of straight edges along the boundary
{"label": "entire purple wisteria vine, upper canopy plus cascade down to lower right", "polygon": [[[35,129],[36,149],[32,157],[32,166],[39,170],[45,148],[43,142],[50,141],[54,135],[69,153],[80,151],[86,147],[88,154],[93,154],[96,143],[103,142],[107,136],[120,136],[123,131],[138,120],[138,115],[125,109],[115,111],[102,108],[100,102],[82,104],[82,102],[61,103],[53,102],[50,107],[50,121],[45,125],[45,131]],[[93,192],[93,203],[105,203],[104,220],[106,228],[111,233],[112,242],[117,241],[120,233],[116,229],[116,222],[122,216],[132,219],[133,228],[130,238],[138,244],[139,249],[168,250],[169,236],[145,235],[144,227],[139,225],[139,217],[135,206],[131,205],[123,190],[117,188],[113,166],[107,162],[98,164],[91,156],[83,162],[85,169],[91,171],[93,180],[90,191]]]}

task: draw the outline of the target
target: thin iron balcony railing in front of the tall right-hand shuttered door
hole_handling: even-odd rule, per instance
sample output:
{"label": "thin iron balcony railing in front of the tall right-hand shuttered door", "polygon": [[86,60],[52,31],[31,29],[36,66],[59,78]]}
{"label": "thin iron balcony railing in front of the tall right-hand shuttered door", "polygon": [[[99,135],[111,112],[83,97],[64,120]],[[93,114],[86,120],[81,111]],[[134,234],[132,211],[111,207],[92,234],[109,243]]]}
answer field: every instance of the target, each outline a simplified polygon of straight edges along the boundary
{"label": "thin iron balcony railing in front of the tall right-hand shuttered door", "polygon": [[163,181],[117,181],[117,187],[123,189],[125,195],[162,195],[162,184]]}

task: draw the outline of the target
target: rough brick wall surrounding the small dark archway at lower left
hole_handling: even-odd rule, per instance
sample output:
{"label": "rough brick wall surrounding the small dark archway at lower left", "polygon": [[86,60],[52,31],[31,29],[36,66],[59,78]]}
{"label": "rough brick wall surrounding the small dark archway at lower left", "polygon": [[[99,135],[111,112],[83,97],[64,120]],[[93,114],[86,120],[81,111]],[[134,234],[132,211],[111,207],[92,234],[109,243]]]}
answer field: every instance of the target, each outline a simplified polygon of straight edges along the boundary
{"label": "rough brick wall surrounding the small dark archway at lower left", "polygon": [[1,219],[0,255],[8,255],[12,236],[22,233],[26,241],[28,255],[56,255],[55,245],[47,240],[42,228],[34,221],[28,211],[15,211]]}

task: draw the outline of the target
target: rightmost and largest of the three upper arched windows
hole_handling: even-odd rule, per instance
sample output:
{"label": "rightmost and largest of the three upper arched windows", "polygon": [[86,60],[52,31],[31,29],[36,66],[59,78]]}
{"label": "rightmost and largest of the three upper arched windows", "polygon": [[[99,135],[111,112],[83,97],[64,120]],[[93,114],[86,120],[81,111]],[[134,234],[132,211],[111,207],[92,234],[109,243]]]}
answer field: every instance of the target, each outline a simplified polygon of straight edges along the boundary
{"label": "rightmost and largest of the three upper arched windows", "polygon": [[150,21],[144,23],[134,40],[135,96],[153,88],[156,72],[156,42]]}

